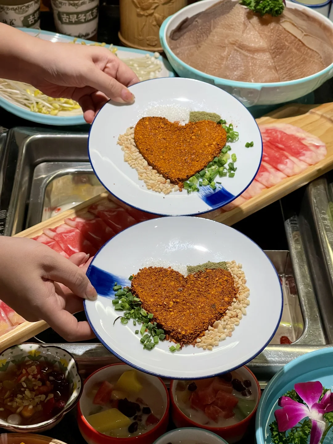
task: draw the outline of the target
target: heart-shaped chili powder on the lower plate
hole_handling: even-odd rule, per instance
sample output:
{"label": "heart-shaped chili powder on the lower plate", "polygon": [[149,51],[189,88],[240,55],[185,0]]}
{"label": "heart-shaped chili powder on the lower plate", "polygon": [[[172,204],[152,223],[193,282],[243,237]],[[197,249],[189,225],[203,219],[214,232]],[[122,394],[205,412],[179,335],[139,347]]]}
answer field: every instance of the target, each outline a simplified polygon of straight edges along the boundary
{"label": "heart-shaped chili powder on the lower plate", "polygon": [[209,269],[185,277],[163,267],[140,270],[131,281],[131,291],[166,333],[186,343],[193,343],[221,319],[238,293],[227,270]]}

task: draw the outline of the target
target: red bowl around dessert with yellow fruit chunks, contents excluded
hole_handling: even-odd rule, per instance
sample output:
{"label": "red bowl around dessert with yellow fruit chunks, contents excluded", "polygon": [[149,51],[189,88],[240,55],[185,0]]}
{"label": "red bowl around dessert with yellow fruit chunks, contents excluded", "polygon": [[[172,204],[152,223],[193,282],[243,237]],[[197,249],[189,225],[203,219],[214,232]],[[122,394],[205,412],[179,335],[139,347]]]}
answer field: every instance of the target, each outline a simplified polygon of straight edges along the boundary
{"label": "red bowl around dessert with yellow fruit chunks, contents excluded", "polygon": [[169,394],[162,379],[144,373],[144,378],[153,384],[161,393],[163,398],[163,416],[154,428],[151,428],[146,433],[130,438],[115,438],[113,436],[104,435],[104,433],[97,432],[88,423],[83,413],[87,414],[87,408],[91,400],[87,399],[87,391],[98,382],[110,380],[112,377],[119,377],[127,370],[133,370],[127,364],[112,364],[92,373],[86,381],[84,381],[83,393],[78,404],[78,425],[81,435],[88,444],[152,444],[159,436],[166,432],[166,427],[169,422]]}

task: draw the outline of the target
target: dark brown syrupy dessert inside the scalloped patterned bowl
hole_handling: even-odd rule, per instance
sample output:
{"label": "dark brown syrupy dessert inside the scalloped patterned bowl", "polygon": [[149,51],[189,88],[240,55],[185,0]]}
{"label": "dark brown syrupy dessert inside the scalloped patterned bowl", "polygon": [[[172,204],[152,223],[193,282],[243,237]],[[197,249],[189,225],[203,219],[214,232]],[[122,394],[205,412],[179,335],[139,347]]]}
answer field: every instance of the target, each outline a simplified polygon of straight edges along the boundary
{"label": "dark brown syrupy dessert inside the scalloped patterned bowl", "polygon": [[40,424],[65,408],[70,385],[51,362],[24,361],[0,372],[0,418],[12,425]]}

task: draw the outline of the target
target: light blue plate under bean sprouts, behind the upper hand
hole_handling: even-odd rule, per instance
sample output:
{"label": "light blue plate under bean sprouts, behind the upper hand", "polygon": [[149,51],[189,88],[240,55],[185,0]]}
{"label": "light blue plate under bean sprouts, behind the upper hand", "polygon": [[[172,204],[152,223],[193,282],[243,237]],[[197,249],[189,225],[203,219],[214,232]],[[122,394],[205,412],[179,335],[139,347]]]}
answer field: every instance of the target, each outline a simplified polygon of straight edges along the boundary
{"label": "light blue plate under bean sprouts, behind the upper hand", "polygon": [[[66,42],[72,42],[74,40],[74,37],[65,36],[63,34],[58,34],[56,32],[40,31],[31,28],[18,28],[18,29],[20,29],[23,32],[26,32],[31,36],[38,36],[40,39],[48,40],[51,42],[66,43]],[[83,39],[77,39],[77,42],[78,43],[85,42],[87,44],[95,43],[90,40],[83,40]],[[125,57],[144,56],[145,54],[150,54],[151,56],[154,56],[153,52],[142,51],[140,49],[124,48],[122,46],[115,46],[114,48],[118,49],[117,55],[119,56],[119,59],[123,59]],[[163,68],[162,71],[160,72],[160,77],[174,77],[174,71],[172,70],[170,63],[161,56],[159,56],[159,60],[161,60],[161,62],[163,63]],[[12,114],[17,115],[22,119],[27,119],[30,120],[31,122],[42,123],[44,125],[59,126],[59,125],[86,124],[85,120],[83,119],[83,114],[72,115],[67,117],[67,116],[35,113],[29,111],[27,108],[16,105],[14,102],[10,102],[9,100],[4,99],[4,97],[1,96],[0,96],[0,106],[3,107],[6,111],[9,111]]]}

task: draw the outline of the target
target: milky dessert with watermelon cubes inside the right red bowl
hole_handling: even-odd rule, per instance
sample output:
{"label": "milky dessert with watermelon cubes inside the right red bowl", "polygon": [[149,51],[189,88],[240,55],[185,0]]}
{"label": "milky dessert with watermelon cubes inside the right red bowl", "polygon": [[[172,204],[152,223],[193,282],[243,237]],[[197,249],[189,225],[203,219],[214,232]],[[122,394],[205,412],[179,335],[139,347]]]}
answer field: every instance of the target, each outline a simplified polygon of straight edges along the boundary
{"label": "milky dessert with watermelon cubes inside the right red bowl", "polygon": [[178,381],[175,400],[180,410],[197,424],[227,427],[254,410],[258,393],[237,371],[197,381]]}

